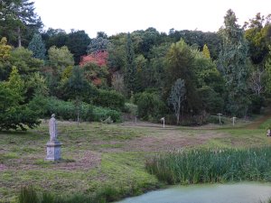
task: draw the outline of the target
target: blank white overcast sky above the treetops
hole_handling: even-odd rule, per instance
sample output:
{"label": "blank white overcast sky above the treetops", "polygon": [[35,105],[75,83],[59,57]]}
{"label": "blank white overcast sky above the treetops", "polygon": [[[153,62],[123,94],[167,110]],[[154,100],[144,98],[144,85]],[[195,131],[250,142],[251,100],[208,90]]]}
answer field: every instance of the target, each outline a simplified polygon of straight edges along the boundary
{"label": "blank white overcast sky above the treetops", "polygon": [[154,27],[159,32],[199,30],[217,32],[231,8],[238,24],[271,14],[271,0],[33,0],[45,29],[84,30],[108,36]]}

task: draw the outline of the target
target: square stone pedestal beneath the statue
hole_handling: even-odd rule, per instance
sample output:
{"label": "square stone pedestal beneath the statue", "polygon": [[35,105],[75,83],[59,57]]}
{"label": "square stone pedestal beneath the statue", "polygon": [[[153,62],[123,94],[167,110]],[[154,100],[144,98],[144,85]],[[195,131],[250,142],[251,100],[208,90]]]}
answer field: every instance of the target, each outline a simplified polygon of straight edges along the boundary
{"label": "square stone pedestal beneath the statue", "polygon": [[58,141],[48,142],[47,147],[47,161],[58,161],[61,160],[61,145],[62,143]]}

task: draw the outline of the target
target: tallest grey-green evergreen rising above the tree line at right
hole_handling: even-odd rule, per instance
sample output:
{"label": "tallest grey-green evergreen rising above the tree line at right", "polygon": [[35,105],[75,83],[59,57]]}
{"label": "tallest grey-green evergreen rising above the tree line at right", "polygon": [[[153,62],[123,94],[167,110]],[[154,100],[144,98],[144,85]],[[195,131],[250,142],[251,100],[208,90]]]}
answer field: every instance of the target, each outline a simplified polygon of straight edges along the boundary
{"label": "tallest grey-green evergreen rising above the tree line at right", "polygon": [[220,69],[226,80],[227,110],[231,115],[244,116],[249,105],[248,44],[232,10],[227,12],[224,23],[225,28],[220,30]]}

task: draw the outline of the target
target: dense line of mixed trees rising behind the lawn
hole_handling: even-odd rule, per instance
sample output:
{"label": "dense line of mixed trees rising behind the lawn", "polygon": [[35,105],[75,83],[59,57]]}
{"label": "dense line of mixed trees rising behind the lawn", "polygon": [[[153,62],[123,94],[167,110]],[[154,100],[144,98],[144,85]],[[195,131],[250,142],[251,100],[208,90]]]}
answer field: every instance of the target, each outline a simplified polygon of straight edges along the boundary
{"label": "dense line of mixed trees rising behind the lawn", "polygon": [[90,39],[43,31],[31,1],[0,4],[0,129],[37,125],[37,98],[72,102],[78,114],[83,104],[132,111],[126,102],[145,120],[203,124],[211,114],[260,113],[270,97],[270,15],[240,26],[229,10],[218,32],[150,27]]}

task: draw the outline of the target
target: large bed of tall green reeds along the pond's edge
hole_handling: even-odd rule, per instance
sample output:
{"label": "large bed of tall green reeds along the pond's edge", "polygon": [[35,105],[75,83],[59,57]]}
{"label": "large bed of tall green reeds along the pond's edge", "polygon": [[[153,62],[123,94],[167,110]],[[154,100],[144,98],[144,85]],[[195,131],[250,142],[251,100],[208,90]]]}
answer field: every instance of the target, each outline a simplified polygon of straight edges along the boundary
{"label": "large bed of tall green reeds along the pond's edge", "polygon": [[271,180],[271,148],[166,152],[146,162],[146,169],[168,184]]}

